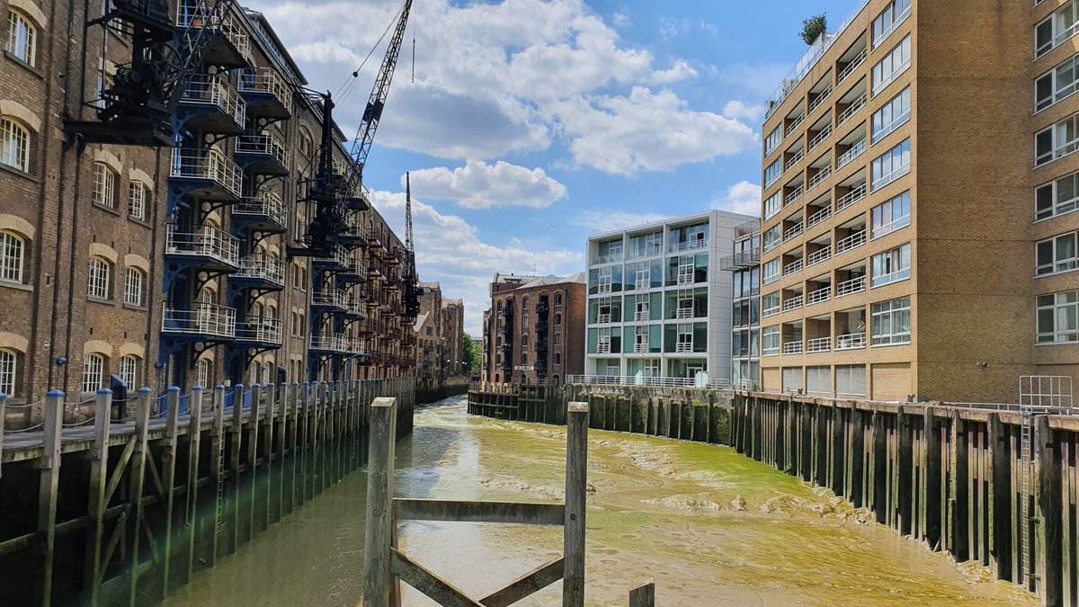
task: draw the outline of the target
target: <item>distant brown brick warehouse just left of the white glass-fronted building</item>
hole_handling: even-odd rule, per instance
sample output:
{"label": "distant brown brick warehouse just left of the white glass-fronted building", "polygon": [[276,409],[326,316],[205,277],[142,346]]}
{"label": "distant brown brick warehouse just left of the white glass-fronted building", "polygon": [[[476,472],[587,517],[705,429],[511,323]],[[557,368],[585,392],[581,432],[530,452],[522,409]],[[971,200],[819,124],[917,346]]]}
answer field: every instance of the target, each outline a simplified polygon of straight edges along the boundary
{"label": "distant brown brick warehouse just left of the white glass-fronted building", "polygon": [[495,274],[483,313],[483,380],[555,383],[585,367],[585,274]]}

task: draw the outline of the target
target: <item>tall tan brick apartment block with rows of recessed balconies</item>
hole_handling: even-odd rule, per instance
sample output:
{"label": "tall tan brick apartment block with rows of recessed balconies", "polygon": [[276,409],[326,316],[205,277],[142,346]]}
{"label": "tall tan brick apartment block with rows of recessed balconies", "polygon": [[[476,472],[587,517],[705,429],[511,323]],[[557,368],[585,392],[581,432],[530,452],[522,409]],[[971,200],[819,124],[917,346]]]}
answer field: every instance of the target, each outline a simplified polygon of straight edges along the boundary
{"label": "tall tan brick apartment block with rows of recessed balconies", "polygon": [[1016,402],[1076,376],[1071,0],[862,0],[768,102],[767,390]]}

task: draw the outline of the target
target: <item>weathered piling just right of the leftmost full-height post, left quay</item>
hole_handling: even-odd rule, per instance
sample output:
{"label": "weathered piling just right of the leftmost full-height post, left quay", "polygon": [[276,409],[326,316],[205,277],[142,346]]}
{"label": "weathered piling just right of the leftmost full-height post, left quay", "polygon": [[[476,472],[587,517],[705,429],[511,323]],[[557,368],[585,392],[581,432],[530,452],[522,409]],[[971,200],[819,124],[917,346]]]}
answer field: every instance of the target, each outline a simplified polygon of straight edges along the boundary
{"label": "weathered piling just right of the leftmost full-height post, left quay", "polygon": [[[90,448],[90,491],[86,496],[86,558],[83,562],[82,588],[87,605],[97,605],[101,579],[101,540],[105,537],[105,489],[109,472],[109,418],[112,390],[98,390],[94,405],[94,444]],[[3,417],[0,416],[0,431]]]}

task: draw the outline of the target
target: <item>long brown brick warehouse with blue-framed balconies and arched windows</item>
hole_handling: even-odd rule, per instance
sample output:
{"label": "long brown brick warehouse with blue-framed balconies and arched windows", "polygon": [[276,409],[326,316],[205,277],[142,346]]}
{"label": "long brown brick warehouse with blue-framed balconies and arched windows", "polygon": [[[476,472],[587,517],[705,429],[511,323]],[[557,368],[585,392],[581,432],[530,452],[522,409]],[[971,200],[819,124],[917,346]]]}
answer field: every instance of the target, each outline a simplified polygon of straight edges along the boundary
{"label": "long brown brick warehouse with blue-framed balconies and arched windows", "polygon": [[210,5],[169,5],[208,40],[177,148],[103,135],[100,92],[132,60],[122,11],[106,28],[87,26],[98,0],[2,6],[0,392],[16,403],[110,375],[160,389],[412,374],[400,240],[354,191],[344,246],[304,254],[322,108],[261,14]]}

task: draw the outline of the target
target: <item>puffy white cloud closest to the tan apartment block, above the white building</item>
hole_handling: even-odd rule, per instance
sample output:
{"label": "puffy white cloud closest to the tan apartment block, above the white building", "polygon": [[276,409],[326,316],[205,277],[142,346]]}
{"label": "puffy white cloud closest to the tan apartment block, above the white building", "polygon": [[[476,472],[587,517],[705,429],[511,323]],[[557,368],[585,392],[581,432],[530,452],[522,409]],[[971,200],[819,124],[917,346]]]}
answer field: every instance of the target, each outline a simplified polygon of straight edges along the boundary
{"label": "puffy white cloud closest to the tan apartment block, above the white building", "polygon": [[737,120],[693,111],[670,91],[634,86],[629,97],[584,96],[558,104],[578,164],[615,175],[671,171],[754,147],[757,136]]}

